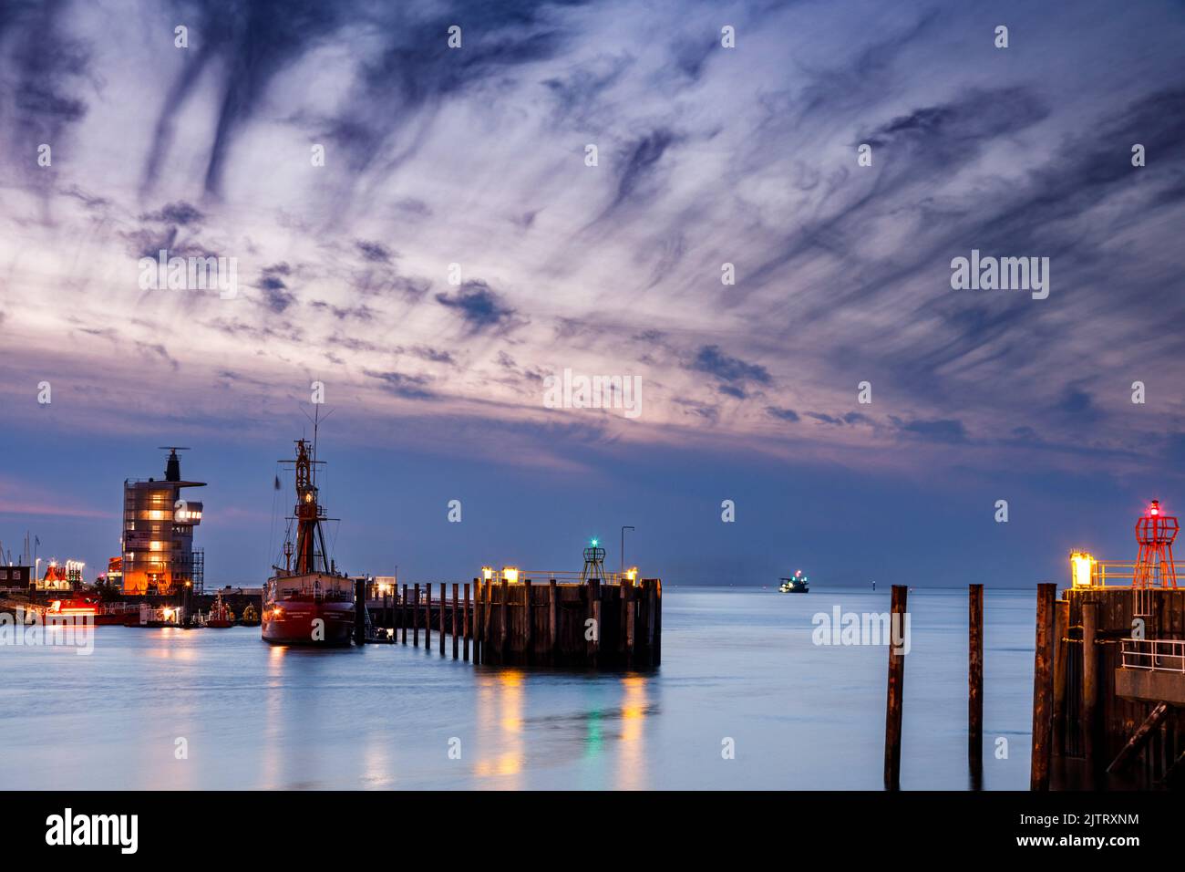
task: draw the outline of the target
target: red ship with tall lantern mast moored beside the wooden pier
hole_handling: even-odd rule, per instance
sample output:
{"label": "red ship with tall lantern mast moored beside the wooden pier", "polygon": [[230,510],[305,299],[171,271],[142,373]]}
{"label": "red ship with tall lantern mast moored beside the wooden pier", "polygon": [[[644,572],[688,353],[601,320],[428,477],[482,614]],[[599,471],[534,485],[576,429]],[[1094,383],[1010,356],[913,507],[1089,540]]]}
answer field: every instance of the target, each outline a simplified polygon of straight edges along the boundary
{"label": "red ship with tall lantern mast moored beside the wooden pier", "polygon": [[[299,439],[296,459],[282,462],[296,465],[296,509],[288,518],[284,566],[273,567],[276,574],[263,592],[263,639],[274,644],[348,645],[354,629],[352,585],[326,556],[321,522],[327,518],[318,502],[314,475],[322,462],[315,452],[315,438],[312,446]],[[295,549],[292,522],[296,524]]]}

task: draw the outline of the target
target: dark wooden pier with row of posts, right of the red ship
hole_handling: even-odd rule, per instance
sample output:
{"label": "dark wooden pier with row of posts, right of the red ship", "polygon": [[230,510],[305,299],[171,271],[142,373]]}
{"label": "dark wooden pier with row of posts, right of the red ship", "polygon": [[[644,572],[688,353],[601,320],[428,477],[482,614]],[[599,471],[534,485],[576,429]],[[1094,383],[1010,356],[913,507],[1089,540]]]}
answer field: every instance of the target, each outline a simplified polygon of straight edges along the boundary
{"label": "dark wooden pier with row of posts, right of the red ship", "polygon": [[[558,574],[558,573],[557,573]],[[433,650],[482,666],[652,669],[662,658],[659,579],[403,585],[366,600],[367,642]],[[410,630],[410,634],[409,634]]]}

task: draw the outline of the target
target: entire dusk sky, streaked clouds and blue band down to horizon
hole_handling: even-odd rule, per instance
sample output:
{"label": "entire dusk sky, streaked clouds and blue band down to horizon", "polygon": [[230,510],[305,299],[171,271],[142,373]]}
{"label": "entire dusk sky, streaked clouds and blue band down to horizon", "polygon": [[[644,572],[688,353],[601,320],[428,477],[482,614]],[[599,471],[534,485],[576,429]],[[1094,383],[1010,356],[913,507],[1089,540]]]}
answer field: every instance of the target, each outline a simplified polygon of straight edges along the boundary
{"label": "entire dusk sky, streaked clouds and blue band down to horizon", "polygon": [[[258,583],[320,380],[350,572],[621,524],[673,583],[1133,559],[1185,507],[1183,45],[1180,2],[0,0],[0,541],[98,568],[180,444],[207,581]],[[237,295],[142,289],[162,248]],[[972,249],[1049,298],[953,289]],[[545,407],[564,368],[641,415]]]}

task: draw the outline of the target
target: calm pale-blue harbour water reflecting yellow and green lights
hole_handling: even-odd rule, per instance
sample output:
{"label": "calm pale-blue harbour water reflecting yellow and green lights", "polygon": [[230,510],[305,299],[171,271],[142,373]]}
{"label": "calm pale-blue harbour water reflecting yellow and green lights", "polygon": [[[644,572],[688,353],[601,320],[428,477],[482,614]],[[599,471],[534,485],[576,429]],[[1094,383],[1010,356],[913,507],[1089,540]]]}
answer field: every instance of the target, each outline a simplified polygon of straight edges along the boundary
{"label": "calm pale-blue harbour water reflecting yellow and green lights", "polygon": [[[0,648],[0,788],[880,789],[886,649],[814,645],[811,619],[886,611],[888,591],[664,599],[651,675],[474,668],[435,634],[431,654],[271,648],[249,628],[101,626],[91,656]],[[1025,789],[1036,597],[985,599],[984,787]],[[902,785],[965,789],[967,592],[909,606]]]}

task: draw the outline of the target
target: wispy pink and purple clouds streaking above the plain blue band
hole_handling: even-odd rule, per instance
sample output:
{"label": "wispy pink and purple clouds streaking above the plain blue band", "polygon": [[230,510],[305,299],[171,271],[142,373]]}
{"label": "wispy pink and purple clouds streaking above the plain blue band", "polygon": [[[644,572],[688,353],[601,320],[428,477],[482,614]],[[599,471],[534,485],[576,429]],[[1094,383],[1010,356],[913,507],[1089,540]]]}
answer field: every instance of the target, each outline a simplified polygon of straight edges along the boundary
{"label": "wispy pink and purple clouds streaking above the plain blue band", "polygon": [[[360,418],[531,432],[572,365],[643,377],[606,439],[1171,456],[1185,11],[1108,9],[1005,4],[1000,51],[925,0],[9,4],[0,319],[66,382],[164,364],[190,405],[316,371]],[[244,293],[142,292],[162,248]],[[1050,256],[1050,298],[952,291],[972,248]]]}

